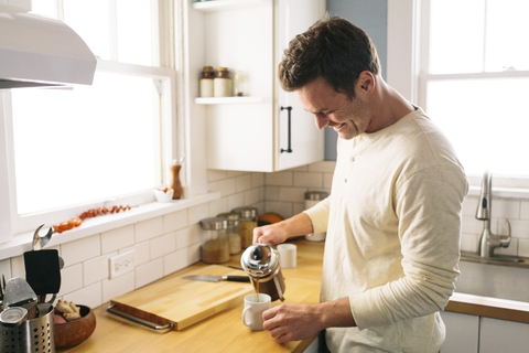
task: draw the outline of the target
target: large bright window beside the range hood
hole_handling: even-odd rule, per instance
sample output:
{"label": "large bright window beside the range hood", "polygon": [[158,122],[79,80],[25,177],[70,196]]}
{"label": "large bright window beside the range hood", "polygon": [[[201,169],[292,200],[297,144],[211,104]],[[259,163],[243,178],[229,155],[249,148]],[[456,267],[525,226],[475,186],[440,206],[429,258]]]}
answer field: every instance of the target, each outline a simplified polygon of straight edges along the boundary
{"label": "large bright window beside the range hood", "polygon": [[168,183],[168,164],[183,156],[183,143],[176,141],[176,75],[160,60],[172,45],[159,43],[171,15],[159,3],[33,1],[32,12],[63,20],[98,63],[93,86],[2,93],[12,130],[12,233],[36,228],[43,215],[55,224],[107,201],[140,204]]}

